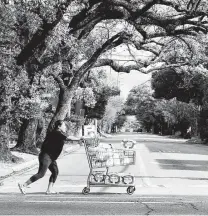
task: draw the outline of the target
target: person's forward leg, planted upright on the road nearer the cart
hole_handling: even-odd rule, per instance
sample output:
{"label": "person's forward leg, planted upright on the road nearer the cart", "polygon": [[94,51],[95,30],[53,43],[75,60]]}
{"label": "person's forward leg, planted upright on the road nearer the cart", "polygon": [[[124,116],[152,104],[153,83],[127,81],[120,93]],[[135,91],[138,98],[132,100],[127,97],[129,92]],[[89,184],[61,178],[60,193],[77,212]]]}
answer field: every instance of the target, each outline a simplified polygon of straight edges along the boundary
{"label": "person's forward leg, planted upright on the road nearer the cart", "polygon": [[59,173],[57,162],[53,161],[48,168],[51,171],[51,176],[49,179],[48,189],[47,189],[46,193],[47,194],[57,193],[53,190],[54,183],[55,183],[57,176],[58,176],[58,173]]}

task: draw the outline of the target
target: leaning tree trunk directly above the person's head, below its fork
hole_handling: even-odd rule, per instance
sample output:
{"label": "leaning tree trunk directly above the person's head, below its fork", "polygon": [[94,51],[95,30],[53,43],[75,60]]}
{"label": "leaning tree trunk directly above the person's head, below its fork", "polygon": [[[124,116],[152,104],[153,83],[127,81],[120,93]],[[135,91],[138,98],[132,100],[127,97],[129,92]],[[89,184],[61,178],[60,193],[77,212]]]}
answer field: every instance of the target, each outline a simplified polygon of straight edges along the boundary
{"label": "leaning tree trunk directly above the person's head, below its fork", "polygon": [[67,88],[60,89],[56,112],[48,126],[47,133],[53,130],[54,123],[57,120],[64,120],[66,116],[70,116],[72,97],[73,90]]}

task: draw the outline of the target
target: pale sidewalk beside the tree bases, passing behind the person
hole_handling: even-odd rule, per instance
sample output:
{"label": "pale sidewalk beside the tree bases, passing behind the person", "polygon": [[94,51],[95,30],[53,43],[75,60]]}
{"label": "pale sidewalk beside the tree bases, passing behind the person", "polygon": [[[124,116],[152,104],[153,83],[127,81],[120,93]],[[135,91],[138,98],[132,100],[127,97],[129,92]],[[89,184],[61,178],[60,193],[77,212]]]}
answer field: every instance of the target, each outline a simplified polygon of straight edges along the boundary
{"label": "pale sidewalk beside the tree bases, passing behind the person", "polygon": [[[63,157],[80,148],[79,144],[66,144],[60,157]],[[22,158],[20,163],[3,163],[0,162],[0,186],[6,178],[15,174],[20,174],[38,165],[38,156],[12,151],[12,154]]]}

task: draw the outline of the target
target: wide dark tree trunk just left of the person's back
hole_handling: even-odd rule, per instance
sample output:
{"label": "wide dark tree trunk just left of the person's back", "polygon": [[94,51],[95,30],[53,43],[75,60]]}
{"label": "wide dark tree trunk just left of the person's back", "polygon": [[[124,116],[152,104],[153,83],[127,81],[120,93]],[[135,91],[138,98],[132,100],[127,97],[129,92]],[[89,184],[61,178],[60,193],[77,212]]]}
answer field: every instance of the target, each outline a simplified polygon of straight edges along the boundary
{"label": "wide dark tree trunk just left of the person's back", "polygon": [[38,118],[24,119],[20,127],[17,145],[14,148],[12,148],[12,150],[37,155],[37,127]]}

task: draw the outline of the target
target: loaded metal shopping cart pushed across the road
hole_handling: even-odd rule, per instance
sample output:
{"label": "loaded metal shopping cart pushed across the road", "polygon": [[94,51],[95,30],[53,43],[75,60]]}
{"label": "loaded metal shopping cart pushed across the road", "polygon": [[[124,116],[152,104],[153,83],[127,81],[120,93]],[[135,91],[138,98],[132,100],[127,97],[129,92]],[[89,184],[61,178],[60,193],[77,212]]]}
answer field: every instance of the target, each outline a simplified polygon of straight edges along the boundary
{"label": "loaded metal shopping cart pushed across the road", "polygon": [[[90,192],[90,187],[127,187],[127,193],[133,194],[136,190],[134,176],[131,174],[110,173],[109,167],[134,165],[136,152],[126,149],[99,147],[99,139],[84,140],[84,147],[89,163],[90,173],[87,178],[87,187],[83,194]],[[104,171],[99,171],[105,168]]]}

